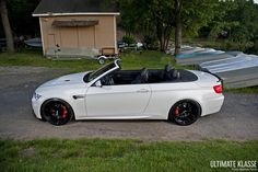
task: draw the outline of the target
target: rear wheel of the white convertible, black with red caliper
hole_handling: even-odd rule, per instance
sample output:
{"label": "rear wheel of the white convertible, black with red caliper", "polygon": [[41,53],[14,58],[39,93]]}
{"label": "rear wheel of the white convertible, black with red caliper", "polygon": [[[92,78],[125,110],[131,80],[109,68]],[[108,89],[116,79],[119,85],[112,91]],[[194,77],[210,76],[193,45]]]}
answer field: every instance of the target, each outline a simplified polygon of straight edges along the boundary
{"label": "rear wheel of the white convertible, black with red caliper", "polygon": [[192,100],[183,100],[173,105],[168,118],[181,126],[191,125],[201,115],[201,106]]}

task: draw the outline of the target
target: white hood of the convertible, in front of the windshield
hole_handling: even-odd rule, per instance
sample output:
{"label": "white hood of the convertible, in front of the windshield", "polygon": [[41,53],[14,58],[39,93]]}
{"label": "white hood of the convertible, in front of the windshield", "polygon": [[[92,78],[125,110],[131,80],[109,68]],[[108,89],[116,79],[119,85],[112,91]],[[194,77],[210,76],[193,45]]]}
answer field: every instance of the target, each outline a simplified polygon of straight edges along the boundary
{"label": "white hood of the convertible, in front of the windshield", "polygon": [[54,87],[54,85],[69,85],[69,84],[85,83],[83,81],[83,77],[89,72],[80,72],[80,73],[62,76],[62,77],[59,77],[57,79],[54,79],[54,80],[50,80],[50,81],[47,81],[47,82],[43,83],[40,85],[40,88]]}

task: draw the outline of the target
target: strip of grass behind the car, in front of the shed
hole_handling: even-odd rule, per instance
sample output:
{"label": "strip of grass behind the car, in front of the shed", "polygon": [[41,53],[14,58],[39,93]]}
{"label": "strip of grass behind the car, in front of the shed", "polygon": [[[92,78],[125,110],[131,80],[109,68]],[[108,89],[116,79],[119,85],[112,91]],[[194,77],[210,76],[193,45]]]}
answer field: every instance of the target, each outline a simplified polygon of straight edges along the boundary
{"label": "strip of grass behind the car, in front of the shed", "polygon": [[[144,51],[124,54],[122,68],[124,69],[139,69],[139,68],[164,68],[169,64],[175,66],[175,60],[172,56],[159,51]],[[21,51],[15,54],[0,54],[0,66],[38,66],[38,67],[55,67],[55,68],[70,68],[71,72],[85,71],[97,69],[101,67],[96,60],[50,60],[43,57],[40,51]]]}

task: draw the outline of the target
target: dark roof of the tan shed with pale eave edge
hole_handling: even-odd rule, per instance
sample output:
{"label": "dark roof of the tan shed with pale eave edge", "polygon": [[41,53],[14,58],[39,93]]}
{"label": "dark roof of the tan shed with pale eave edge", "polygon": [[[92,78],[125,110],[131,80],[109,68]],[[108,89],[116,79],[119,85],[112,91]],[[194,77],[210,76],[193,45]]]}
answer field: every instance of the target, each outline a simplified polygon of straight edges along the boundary
{"label": "dark roof of the tan shed with pale eave edge", "polygon": [[33,16],[115,14],[118,11],[107,0],[42,0]]}

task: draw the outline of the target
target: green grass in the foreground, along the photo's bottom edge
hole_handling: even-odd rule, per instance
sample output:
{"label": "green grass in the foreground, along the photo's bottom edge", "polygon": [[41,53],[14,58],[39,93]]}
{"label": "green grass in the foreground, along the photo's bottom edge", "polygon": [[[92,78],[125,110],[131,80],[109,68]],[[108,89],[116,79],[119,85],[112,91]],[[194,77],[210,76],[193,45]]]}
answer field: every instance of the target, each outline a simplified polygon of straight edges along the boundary
{"label": "green grass in the foreground, along the photo's bottom edge", "polygon": [[215,160],[258,160],[258,141],[0,140],[2,172],[232,171]]}

